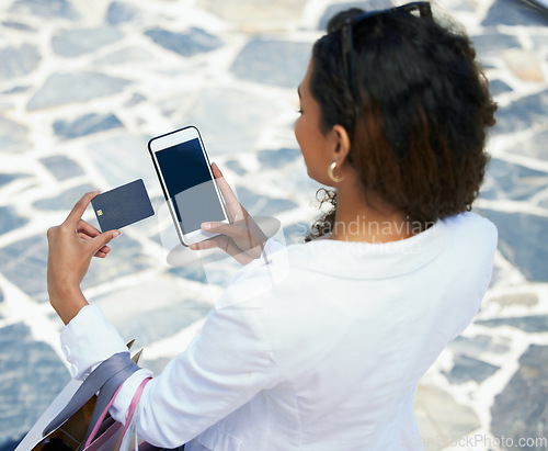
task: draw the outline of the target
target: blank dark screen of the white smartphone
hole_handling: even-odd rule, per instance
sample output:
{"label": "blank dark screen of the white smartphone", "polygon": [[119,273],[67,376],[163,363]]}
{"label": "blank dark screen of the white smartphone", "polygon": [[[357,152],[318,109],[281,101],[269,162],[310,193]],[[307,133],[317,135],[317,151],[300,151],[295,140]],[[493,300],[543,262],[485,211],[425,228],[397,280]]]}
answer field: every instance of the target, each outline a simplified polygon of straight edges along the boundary
{"label": "blank dark screen of the white smartphone", "polygon": [[198,138],[157,151],[156,157],[185,235],[204,222],[226,218]]}

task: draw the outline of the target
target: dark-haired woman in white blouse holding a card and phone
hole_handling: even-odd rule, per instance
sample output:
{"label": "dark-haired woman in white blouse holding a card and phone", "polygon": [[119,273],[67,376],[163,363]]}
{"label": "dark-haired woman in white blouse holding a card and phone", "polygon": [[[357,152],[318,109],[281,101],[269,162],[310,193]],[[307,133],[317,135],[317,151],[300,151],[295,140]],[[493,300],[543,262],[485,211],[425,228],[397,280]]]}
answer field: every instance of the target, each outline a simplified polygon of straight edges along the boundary
{"label": "dark-haired woman in white blouse holding a card and phone", "polygon": [[[496,246],[494,226],[467,212],[495,109],[473,58],[427,3],[331,20],[298,89],[295,135],[308,174],[334,189],[333,210],[310,243],[261,252],[261,232],[220,181],[236,221],[204,224],[224,235],[194,248],[249,264],[146,386],[141,438],[186,450],[421,449],[416,384],[478,312]],[[48,290],[75,377],[125,350],[79,287],[119,234],[80,219],[94,194],[48,230]],[[124,383],[116,419],[147,374]]]}

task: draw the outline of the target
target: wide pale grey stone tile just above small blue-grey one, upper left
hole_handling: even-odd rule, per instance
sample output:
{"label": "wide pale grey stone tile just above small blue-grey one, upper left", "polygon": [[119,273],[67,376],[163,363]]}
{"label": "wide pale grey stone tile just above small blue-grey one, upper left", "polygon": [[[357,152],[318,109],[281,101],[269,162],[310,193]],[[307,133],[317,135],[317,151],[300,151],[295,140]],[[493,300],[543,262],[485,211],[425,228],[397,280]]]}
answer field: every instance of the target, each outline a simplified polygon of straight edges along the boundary
{"label": "wide pale grey stone tile just above small blue-grey one, upper left", "polygon": [[94,72],[54,74],[26,105],[27,110],[48,109],[65,103],[85,102],[122,91],[128,80]]}

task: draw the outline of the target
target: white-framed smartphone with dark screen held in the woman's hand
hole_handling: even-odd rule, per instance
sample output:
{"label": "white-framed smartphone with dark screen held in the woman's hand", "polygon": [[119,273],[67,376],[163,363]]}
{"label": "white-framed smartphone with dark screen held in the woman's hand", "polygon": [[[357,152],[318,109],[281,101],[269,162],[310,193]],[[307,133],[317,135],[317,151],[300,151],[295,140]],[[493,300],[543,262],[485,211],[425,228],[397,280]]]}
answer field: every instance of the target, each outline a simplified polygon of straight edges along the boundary
{"label": "white-framed smartphone with dark screen held in the woman's hand", "polygon": [[199,228],[204,222],[229,219],[198,129],[187,126],[157,136],[148,149],[180,241],[190,246],[217,235]]}

